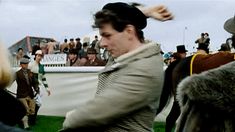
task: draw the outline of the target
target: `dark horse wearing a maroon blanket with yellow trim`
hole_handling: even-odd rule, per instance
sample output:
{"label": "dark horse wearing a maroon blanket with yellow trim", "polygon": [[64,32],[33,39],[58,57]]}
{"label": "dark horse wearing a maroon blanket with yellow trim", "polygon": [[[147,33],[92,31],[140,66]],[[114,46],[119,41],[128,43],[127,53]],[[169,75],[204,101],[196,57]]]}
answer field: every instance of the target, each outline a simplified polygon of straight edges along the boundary
{"label": "dark horse wearing a maroon blanket with yellow trim", "polygon": [[180,107],[176,100],[177,85],[187,76],[198,74],[209,69],[219,67],[235,60],[235,54],[230,52],[217,52],[215,54],[195,54],[178,60],[165,71],[164,85],[160,97],[158,115],[174,97],[173,106],[166,118],[165,131],[170,132],[180,115]]}

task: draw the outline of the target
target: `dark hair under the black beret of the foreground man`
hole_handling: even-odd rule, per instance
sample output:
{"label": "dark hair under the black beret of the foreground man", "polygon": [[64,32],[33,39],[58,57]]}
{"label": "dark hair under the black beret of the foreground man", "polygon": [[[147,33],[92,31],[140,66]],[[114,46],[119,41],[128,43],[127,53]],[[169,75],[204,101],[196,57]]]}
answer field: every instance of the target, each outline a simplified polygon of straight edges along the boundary
{"label": "dark hair under the black beret of the foreground man", "polygon": [[[119,18],[115,13],[109,10],[101,10],[94,15],[94,25],[93,28],[102,28],[103,24],[111,24],[112,27],[118,31],[122,32],[128,24],[132,22],[129,20],[124,20]],[[134,26],[135,27],[135,26]],[[143,42],[144,41],[144,33],[141,29],[136,29],[136,34],[138,39]]]}

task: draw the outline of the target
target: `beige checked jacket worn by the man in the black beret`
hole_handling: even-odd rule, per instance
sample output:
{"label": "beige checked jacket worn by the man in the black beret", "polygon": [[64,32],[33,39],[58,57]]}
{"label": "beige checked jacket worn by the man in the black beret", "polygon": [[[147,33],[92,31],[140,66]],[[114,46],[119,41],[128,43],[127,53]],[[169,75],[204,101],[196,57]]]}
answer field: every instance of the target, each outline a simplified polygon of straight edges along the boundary
{"label": "beige checked jacket worn by the man in the black beret", "polygon": [[163,83],[160,46],[140,48],[110,60],[99,74],[95,97],[71,111],[64,129],[103,127],[102,131],[151,131]]}

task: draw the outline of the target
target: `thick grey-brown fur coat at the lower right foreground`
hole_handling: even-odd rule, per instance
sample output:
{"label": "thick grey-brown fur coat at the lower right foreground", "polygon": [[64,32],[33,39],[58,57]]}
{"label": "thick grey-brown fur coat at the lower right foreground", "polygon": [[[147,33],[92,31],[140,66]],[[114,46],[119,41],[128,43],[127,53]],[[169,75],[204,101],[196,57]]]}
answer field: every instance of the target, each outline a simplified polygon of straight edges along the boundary
{"label": "thick grey-brown fur coat at the lower right foreground", "polygon": [[235,131],[235,62],[187,77],[177,89],[176,132]]}

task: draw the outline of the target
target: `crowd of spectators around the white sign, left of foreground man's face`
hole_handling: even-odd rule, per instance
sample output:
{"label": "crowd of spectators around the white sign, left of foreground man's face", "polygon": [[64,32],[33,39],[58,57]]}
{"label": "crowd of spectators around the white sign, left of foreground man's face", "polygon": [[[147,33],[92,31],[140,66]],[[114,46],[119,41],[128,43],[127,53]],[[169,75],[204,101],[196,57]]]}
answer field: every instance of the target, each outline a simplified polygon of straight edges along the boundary
{"label": "crowd of spectators around the white sign, left of foreground man's face", "polygon": [[[41,50],[43,55],[66,54],[64,66],[104,66],[109,55],[105,49],[100,47],[98,36],[95,35],[91,43],[88,40],[83,40],[83,43],[80,38],[70,38],[69,41],[65,38],[63,43],[56,40],[38,40],[32,47],[32,52],[27,55],[34,56],[35,51]],[[25,54],[23,48],[18,49],[16,53],[17,66]]]}

